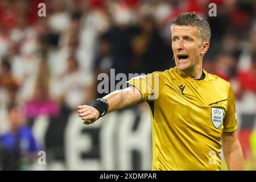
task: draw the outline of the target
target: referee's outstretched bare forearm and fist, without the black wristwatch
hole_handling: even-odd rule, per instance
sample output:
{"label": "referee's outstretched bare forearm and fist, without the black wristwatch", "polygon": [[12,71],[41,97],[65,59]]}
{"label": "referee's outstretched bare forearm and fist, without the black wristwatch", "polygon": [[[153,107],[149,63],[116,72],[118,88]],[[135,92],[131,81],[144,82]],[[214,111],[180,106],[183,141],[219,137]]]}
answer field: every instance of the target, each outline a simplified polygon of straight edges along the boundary
{"label": "referee's outstretched bare forearm and fist, without the black wristwatch", "polygon": [[[141,93],[137,88],[134,86],[131,86],[129,88],[123,89],[123,90],[116,90],[113,93],[108,94],[104,97],[108,103],[109,103],[109,109],[108,113],[114,111],[123,109],[125,107],[128,107],[133,104],[137,104],[139,101],[141,101]],[[99,112],[97,109],[95,109],[92,106],[88,105],[82,105],[78,106],[78,113],[79,117],[82,118],[82,120],[90,119],[90,123],[84,122],[84,124],[91,124],[99,118]]]}

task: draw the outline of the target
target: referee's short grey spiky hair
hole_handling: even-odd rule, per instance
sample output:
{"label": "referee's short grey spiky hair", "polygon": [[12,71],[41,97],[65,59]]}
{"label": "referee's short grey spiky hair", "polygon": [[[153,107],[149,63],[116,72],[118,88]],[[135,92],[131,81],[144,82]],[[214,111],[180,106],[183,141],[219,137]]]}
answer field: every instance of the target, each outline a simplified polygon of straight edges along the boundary
{"label": "referee's short grey spiky hair", "polygon": [[198,16],[195,12],[181,13],[172,22],[171,30],[175,25],[197,27],[199,38],[201,38],[204,42],[210,42],[210,26],[207,20]]}

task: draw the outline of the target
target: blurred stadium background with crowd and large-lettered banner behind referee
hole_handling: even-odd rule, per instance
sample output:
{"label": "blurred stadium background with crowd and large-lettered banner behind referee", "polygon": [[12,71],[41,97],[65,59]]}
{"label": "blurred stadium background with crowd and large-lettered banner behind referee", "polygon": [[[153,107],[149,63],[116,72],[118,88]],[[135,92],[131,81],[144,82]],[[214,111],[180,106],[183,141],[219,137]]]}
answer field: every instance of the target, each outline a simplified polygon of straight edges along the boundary
{"label": "blurred stadium background with crowd and large-lettered banner behind referee", "polygon": [[[40,2],[46,17],[38,16]],[[217,5],[216,17],[208,16],[210,2]],[[0,134],[10,130],[7,106],[17,103],[38,150],[46,151],[46,165],[37,163],[36,154],[32,162],[20,156],[23,169],[151,169],[145,105],[90,126],[82,125],[76,107],[102,96],[97,75],[110,74],[110,68],[128,74],[174,67],[170,23],[185,11],[208,18],[212,39],[204,68],[231,82],[246,169],[255,170],[255,1],[1,0]],[[0,158],[6,156],[0,152]]]}

